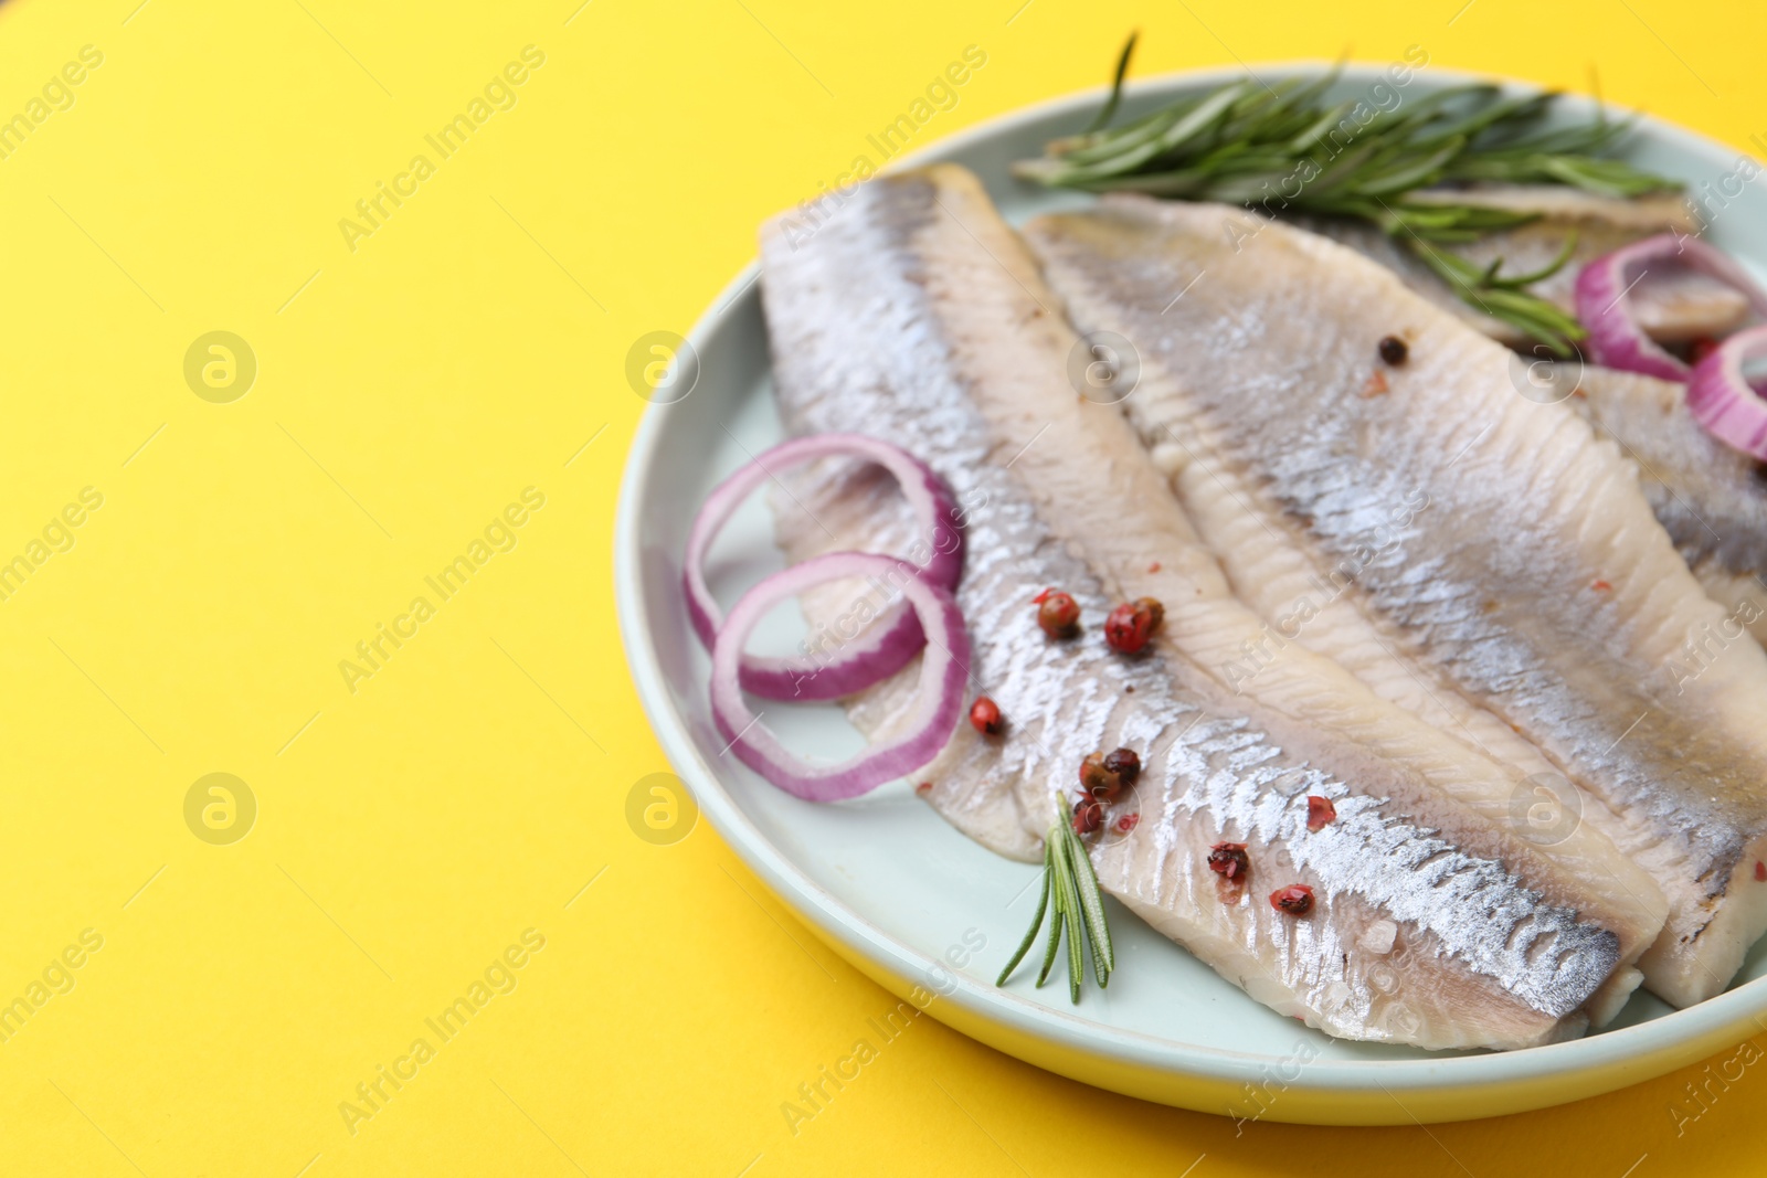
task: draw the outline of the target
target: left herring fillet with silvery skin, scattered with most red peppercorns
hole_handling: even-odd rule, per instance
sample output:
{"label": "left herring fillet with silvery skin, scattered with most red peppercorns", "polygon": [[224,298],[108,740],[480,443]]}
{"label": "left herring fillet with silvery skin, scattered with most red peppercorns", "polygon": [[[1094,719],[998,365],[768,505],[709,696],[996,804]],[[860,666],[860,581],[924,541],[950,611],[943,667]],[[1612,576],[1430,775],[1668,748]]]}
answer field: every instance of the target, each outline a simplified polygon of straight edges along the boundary
{"label": "left herring fillet with silvery skin, scattered with most red peppercorns", "polygon": [[[972,505],[958,600],[972,680],[1000,703],[1007,731],[986,744],[959,736],[924,770],[942,812],[975,797],[1012,812],[1005,782],[1041,834],[1066,811],[1062,791],[1087,752],[1134,747],[1141,782],[1111,821],[1140,821],[1096,841],[1101,885],[1260,1001],[1334,1035],[1426,1047],[1513,1047],[1581,1028],[1581,1008],[1622,952],[1649,941],[1649,922],[1604,910],[1440,793],[1430,766],[1467,758],[1338,668],[1320,661],[1336,682],[1272,676],[1248,699],[1187,652],[1210,634],[1251,634],[1256,618],[1226,592],[1120,417],[1074,397],[1071,328],[968,173],[869,182],[797,247],[769,224],[762,261],[788,427],[891,438]],[[827,512],[876,503],[878,489],[836,472],[792,498],[808,510],[779,530],[802,558],[852,546]],[[1106,517],[1110,535],[1097,526]],[[1081,602],[1092,641],[1037,629],[1028,602],[1048,585]],[[1097,639],[1127,592],[1168,606],[1166,636],[1140,659]],[[816,604],[809,613],[813,625],[825,616]],[[1316,834],[1309,793],[1338,805]],[[1249,844],[1248,888],[1223,892],[1207,869],[1217,841]],[[1286,883],[1315,887],[1309,918],[1267,902]]]}

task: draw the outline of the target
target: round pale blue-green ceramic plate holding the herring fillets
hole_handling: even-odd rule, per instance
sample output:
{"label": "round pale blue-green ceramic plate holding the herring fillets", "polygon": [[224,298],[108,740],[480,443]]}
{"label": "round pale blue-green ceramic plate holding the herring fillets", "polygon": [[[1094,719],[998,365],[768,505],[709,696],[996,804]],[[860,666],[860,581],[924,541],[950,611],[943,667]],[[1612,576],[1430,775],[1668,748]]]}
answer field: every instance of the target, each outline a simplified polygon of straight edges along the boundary
{"label": "round pale blue-green ceramic plate holding the herring fillets", "polygon": [[[1320,69],[1288,64],[1256,72],[1269,81]],[[1131,87],[1122,117],[1233,76],[1143,81]],[[1350,67],[1338,90],[1364,97],[1382,81],[1380,67]],[[1419,72],[1398,94],[1460,81],[1468,79]],[[1090,198],[1021,185],[1007,164],[1083,127],[1101,97],[1083,94],[997,118],[905,162],[968,166],[1014,223],[1085,203]],[[1562,117],[1592,109],[1581,99],[1560,101]],[[1640,122],[1633,157],[1686,180],[1695,194],[1733,191],[1737,182],[1725,177],[1735,177],[1742,159],[1652,120]],[[1740,187],[1740,196],[1723,196],[1728,207],[1718,208],[1709,238],[1758,272],[1767,263],[1767,194]],[[1341,1042],[1260,1007],[1115,902],[1119,970],[1108,991],[1088,985],[1073,1007],[1066,984],[1034,989],[1023,968],[995,989],[995,973],[1030,920],[1035,867],[970,842],[906,782],[836,805],[792,798],[728,756],[712,728],[709,659],[687,625],[680,551],[707,491],[781,440],[753,267],[687,339],[638,429],[620,496],[615,576],[633,676],[670,761],[724,841],[836,952],[898,996],[1088,1084],[1207,1113],[1334,1125],[1465,1120],[1576,1100],[1693,1063],[1760,1030],[1767,943],[1728,993],[1689,1010],[1640,993],[1613,1026],[1576,1042],[1502,1054]],[[640,369],[650,343],[634,348]],[[726,606],[781,567],[763,500],[756,496],[714,549],[712,585]],[[788,648],[790,625],[781,622],[770,639]],[[767,722],[809,754],[850,754],[861,745],[832,705],[777,706]]]}

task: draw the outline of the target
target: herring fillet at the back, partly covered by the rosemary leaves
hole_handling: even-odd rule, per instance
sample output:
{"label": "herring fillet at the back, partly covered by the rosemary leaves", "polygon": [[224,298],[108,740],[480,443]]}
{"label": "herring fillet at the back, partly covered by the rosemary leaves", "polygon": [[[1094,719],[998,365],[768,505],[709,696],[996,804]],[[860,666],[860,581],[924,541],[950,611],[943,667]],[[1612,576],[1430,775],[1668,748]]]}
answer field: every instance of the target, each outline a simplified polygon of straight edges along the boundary
{"label": "herring fillet at the back, partly covered by the rosemary leaves", "polygon": [[[1497,230],[1475,242],[1437,245],[1452,249],[1477,267],[1502,260],[1504,274],[1541,270],[1558,256],[1566,240],[1576,237],[1569,261],[1557,272],[1528,284],[1528,291],[1576,314],[1576,276],[1585,263],[1657,233],[1698,233],[1700,224],[1680,196],[1642,196],[1617,200],[1580,193],[1564,185],[1483,185],[1472,189],[1426,189],[1414,193],[1419,203],[1470,203],[1507,212],[1536,214],[1539,219],[1511,230]],[[1417,260],[1403,242],[1382,230],[1338,217],[1297,215],[1288,223],[1332,238],[1398,274],[1407,286],[1454,314],[1470,327],[1513,348],[1534,341],[1514,325],[1468,306],[1435,270]],[[1749,316],[1748,298],[1696,270],[1657,267],[1629,295],[1633,316],[1647,336],[1659,343],[1684,343],[1700,336],[1723,336]]]}

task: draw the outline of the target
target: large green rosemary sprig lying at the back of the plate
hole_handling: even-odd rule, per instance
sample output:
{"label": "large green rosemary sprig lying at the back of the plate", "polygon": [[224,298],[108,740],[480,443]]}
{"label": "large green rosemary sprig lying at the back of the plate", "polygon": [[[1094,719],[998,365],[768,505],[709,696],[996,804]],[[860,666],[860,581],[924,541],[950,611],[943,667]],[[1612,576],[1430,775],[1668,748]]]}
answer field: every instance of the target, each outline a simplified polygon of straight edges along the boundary
{"label": "large green rosemary sprig lying at the back of the plate", "polygon": [[1569,251],[1534,276],[1500,277],[1442,245],[1472,242],[1534,215],[1454,203],[1444,196],[1451,187],[1424,200],[1412,196],[1474,182],[1562,184],[1613,198],[1680,187],[1613,157],[1629,122],[1597,117],[1544,129],[1557,94],[1505,95],[1491,85],[1449,87],[1376,109],[1348,99],[1327,102],[1336,69],[1274,87],[1244,78],[1110,127],[1133,49],[1129,37],[1092,127],[1050,143],[1043,159],[1018,161],[1014,175],[1048,187],[1368,221],[1403,240],[1463,300],[1560,353],[1583,337],[1583,327],[1527,286],[1557,272]]}

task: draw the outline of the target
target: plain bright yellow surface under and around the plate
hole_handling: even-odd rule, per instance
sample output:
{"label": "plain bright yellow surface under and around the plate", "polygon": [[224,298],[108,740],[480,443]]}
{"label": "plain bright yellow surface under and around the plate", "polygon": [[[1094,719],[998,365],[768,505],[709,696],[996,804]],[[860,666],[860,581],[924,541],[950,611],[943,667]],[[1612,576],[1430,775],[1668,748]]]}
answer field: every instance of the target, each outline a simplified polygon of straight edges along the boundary
{"label": "plain bright yellow surface under and around the plate", "polygon": [[[1140,25],[1141,72],[1408,44],[1569,88],[1596,65],[1740,148],[1767,132],[1760,5],[138,2],[0,9],[0,117],[28,120],[0,159],[0,560],[30,562],[0,600],[0,1001],[30,1012],[0,1042],[0,1173],[1645,1178],[1760,1155],[1767,1081],[1740,1063],[1703,1106],[1695,1069],[1505,1121],[1235,1127],[929,1019],[793,1132],[781,1104],[894,1003],[707,827],[629,827],[666,763],[610,576],[629,344],[686,330],[756,223],[965,46],[986,67],[924,141],[1099,81]],[[512,106],[428,147],[511,62]],[[403,203],[341,230],[378,182]],[[186,381],[209,332],[254,353],[246,396],[223,353],[191,366],[205,397]],[[486,535],[465,588],[426,586]],[[346,676],[380,623],[408,638]],[[187,809],[209,774],[228,793]],[[426,1019],[456,998],[486,1001],[444,1040]],[[369,1106],[382,1067],[408,1079]]]}

